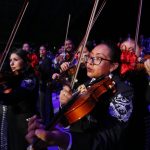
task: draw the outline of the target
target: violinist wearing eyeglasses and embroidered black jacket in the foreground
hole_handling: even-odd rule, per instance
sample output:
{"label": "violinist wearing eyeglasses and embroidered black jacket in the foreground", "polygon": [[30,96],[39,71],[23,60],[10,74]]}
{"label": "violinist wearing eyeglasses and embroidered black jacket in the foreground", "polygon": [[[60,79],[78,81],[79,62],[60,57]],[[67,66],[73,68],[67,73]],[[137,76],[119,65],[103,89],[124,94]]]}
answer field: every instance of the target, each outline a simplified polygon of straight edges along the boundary
{"label": "violinist wearing eyeglasses and embroidered black jacket in the foreground", "polygon": [[[78,96],[88,95],[94,85],[102,83],[110,75],[115,82],[115,92],[108,90],[96,98],[95,107],[87,115],[68,124],[69,131],[58,126],[49,131],[45,130],[40,119],[33,116],[28,124],[28,142],[32,144],[34,138],[38,137],[47,145],[58,145],[63,150],[125,149],[126,129],[132,114],[133,90],[119,79],[119,63],[120,50],[115,44],[103,42],[97,45],[86,59],[87,76],[91,81],[86,88],[78,88],[81,91]],[[62,110],[74,100],[73,95],[68,86],[63,87],[60,92]],[[95,101],[95,97],[93,90],[90,101]],[[81,111],[79,113],[82,114]],[[68,122],[69,119],[65,123]]]}

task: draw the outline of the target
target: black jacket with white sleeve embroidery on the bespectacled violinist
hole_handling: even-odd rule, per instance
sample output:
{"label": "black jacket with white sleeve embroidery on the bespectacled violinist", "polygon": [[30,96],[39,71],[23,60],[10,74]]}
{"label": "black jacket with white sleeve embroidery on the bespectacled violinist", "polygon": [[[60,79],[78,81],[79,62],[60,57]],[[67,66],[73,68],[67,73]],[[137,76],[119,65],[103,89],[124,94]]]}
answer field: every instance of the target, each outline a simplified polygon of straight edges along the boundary
{"label": "black jacket with white sleeve embroidery on the bespectacled violinist", "polygon": [[105,93],[89,115],[70,126],[71,150],[123,150],[124,132],[132,114],[133,89],[115,81],[116,93]]}

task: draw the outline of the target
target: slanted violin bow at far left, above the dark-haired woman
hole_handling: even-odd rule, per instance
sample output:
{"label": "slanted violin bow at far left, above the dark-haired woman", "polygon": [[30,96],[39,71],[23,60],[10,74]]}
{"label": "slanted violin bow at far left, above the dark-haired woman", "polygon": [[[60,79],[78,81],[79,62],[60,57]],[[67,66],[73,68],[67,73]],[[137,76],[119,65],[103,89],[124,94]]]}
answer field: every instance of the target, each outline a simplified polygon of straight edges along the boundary
{"label": "slanted violin bow at far left, above the dark-haired woman", "polygon": [[7,57],[7,55],[8,55],[8,52],[9,52],[9,50],[10,50],[10,47],[11,47],[11,45],[12,45],[12,42],[13,42],[13,40],[14,40],[14,38],[15,38],[15,35],[16,35],[16,33],[17,33],[17,30],[18,30],[18,28],[19,28],[19,25],[20,25],[20,23],[21,23],[21,21],[22,21],[22,18],[23,18],[23,16],[24,16],[24,13],[25,13],[25,11],[26,11],[28,5],[29,5],[29,0],[25,0],[24,3],[23,3],[22,9],[21,9],[21,11],[20,11],[20,13],[19,13],[19,16],[18,16],[18,18],[17,18],[17,21],[16,21],[16,23],[15,23],[15,25],[14,25],[14,27],[13,27],[13,30],[12,30],[10,36],[9,36],[9,39],[8,39],[8,41],[7,41],[6,47],[5,47],[5,49],[4,49],[4,52],[3,52],[2,56],[1,56],[1,59],[0,59],[0,71],[1,71],[2,68],[3,68],[4,62],[5,62],[5,60],[6,60],[6,57]]}

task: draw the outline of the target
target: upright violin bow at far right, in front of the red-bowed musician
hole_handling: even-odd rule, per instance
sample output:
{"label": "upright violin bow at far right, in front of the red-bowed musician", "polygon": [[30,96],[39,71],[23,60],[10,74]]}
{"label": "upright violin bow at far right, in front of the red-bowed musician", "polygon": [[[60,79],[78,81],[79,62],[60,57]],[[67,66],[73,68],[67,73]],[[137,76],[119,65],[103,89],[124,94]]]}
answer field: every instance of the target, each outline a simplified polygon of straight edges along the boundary
{"label": "upright violin bow at far right, in front of the red-bowed musician", "polygon": [[140,21],[141,21],[142,4],[143,4],[143,0],[140,0],[139,10],[138,10],[137,26],[136,26],[136,34],[135,34],[135,54],[137,55],[137,57],[140,56],[140,52],[137,48],[137,43],[138,43],[138,37],[139,37],[139,28],[140,28]]}

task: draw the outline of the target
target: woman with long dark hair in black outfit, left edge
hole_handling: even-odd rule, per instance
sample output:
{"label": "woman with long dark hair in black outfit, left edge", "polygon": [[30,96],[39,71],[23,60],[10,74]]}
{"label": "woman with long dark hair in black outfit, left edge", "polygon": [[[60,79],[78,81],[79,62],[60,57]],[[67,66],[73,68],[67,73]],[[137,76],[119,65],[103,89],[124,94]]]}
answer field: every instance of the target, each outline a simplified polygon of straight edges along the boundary
{"label": "woman with long dark hair in black outfit, left edge", "polygon": [[27,118],[37,112],[38,82],[25,51],[14,50],[9,60],[9,90],[0,88],[0,150],[25,150]]}

